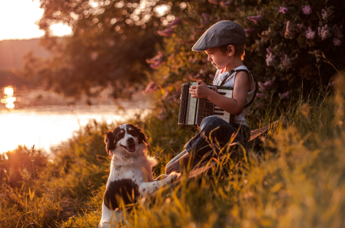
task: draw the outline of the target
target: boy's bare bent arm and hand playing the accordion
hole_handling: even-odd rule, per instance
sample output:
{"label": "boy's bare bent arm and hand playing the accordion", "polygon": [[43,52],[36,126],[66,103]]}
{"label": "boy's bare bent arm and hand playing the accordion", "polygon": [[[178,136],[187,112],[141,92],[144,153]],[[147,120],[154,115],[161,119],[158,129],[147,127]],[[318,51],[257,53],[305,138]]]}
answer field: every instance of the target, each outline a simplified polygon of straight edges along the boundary
{"label": "boy's bare bent arm and hand playing the accordion", "polygon": [[208,99],[219,108],[231,113],[239,115],[242,113],[247,102],[247,94],[249,89],[249,75],[240,71],[236,74],[236,83],[233,91],[233,98],[224,97],[219,93],[210,90],[205,82],[198,80],[199,85],[191,86],[189,93],[192,97],[200,99]]}

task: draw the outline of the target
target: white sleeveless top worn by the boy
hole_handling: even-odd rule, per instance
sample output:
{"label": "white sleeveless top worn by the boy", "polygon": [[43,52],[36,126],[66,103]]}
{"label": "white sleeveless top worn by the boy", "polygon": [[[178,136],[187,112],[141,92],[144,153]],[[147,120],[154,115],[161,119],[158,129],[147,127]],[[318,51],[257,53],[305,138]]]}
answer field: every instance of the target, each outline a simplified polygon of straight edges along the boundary
{"label": "white sleeveless top worn by the boy", "polygon": [[[248,70],[248,68],[246,66],[239,66],[239,67],[235,68],[235,70],[239,70],[239,69]],[[223,77],[228,75],[228,71],[226,71],[224,73],[220,73],[220,72],[221,72],[221,70],[217,70],[217,72],[215,74],[215,78],[213,79],[213,84],[215,86],[219,86],[219,84],[221,83],[221,79],[223,79]],[[229,86],[229,87],[235,88],[235,76],[236,76],[236,72],[233,73],[232,75],[230,75],[230,77],[228,77],[228,79],[226,80],[226,82],[224,83],[223,86]],[[253,77],[252,77],[252,82],[253,82],[253,91],[248,92],[248,94],[247,94],[247,103],[250,102],[250,99],[253,98],[253,93],[255,91],[255,83],[254,83]],[[244,108],[241,114],[234,116],[234,122],[237,123],[237,124],[243,124],[245,126],[248,126],[247,122],[246,122],[246,115],[247,115],[247,113],[248,113],[247,108]]]}

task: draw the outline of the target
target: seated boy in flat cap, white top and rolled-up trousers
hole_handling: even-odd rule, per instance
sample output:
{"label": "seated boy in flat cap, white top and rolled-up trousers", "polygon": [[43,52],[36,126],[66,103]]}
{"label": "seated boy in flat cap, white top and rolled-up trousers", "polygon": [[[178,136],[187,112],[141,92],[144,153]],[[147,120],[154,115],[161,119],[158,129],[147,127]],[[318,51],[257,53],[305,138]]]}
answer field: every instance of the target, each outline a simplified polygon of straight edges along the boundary
{"label": "seated boy in flat cap, white top and rolled-up trousers", "polygon": [[220,145],[224,146],[231,135],[239,131],[235,141],[248,140],[249,128],[244,118],[247,110],[244,106],[251,103],[255,85],[253,75],[243,64],[245,43],[246,33],[242,26],[234,21],[219,21],[208,28],[193,46],[194,51],[205,51],[208,61],[217,68],[213,84],[231,86],[234,90],[233,98],[224,97],[210,90],[205,82],[197,80],[199,85],[191,86],[189,93],[192,97],[208,99],[224,111],[235,115],[234,123],[231,125],[214,115],[204,118],[200,132],[184,146],[184,151],[168,162],[166,173],[172,171],[180,173],[189,160],[194,166],[204,155],[213,151],[206,137],[211,136],[213,140],[217,139]]}

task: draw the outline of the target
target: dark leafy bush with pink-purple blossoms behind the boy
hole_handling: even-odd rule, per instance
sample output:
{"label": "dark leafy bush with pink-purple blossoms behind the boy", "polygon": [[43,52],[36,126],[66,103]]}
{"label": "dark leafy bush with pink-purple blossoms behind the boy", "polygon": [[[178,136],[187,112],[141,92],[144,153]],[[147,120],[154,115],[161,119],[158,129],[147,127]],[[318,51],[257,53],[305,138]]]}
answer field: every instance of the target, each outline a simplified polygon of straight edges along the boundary
{"label": "dark leafy bush with pink-purple blossoms behind the boy", "polygon": [[249,113],[252,122],[259,122],[264,110],[278,104],[286,110],[288,99],[296,102],[311,91],[317,96],[333,85],[335,68],[344,68],[344,9],[337,0],[174,1],[175,21],[158,32],[166,36],[164,44],[157,57],[148,59],[156,72],[146,93],[156,91],[161,113],[174,113],[171,106],[179,106],[181,84],[196,79],[212,82],[216,69],[205,53],[195,53],[191,47],[217,21],[233,20],[246,31],[244,64],[259,82]]}

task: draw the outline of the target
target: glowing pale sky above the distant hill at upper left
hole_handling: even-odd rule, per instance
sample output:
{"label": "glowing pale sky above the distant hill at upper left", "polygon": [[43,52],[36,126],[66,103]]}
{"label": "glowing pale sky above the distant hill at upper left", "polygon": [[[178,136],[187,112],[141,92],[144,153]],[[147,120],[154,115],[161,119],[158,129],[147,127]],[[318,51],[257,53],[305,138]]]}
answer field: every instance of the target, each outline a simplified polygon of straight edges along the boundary
{"label": "glowing pale sky above the distant hill at upper left", "polygon": [[[0,0],[0,40],[42,37],[43,30],[35,24],[42,15],[39,0]],[[50,29],[53,35],[59,37],[71,33],[71,29],[62,23]]]}

